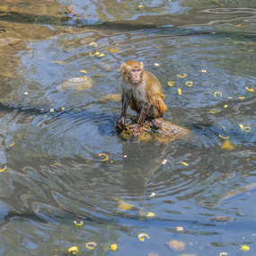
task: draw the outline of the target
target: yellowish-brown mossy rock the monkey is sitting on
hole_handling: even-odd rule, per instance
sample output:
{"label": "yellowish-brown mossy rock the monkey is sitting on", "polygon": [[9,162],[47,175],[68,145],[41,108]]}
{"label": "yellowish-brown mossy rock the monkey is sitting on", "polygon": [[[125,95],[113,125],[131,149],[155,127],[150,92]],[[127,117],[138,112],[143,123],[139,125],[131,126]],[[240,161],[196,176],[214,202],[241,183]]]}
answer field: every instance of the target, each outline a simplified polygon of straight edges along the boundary
{"label": "yellowish-brown mossy rock the monkey is sitting on", "polygon": [[[133,122],[127,123],[125,128],[120,133],[120,136],[124,139],[132,138]],[[161,143],[172,142],[177,139],[182,139],[190,135],[189,128],[182,128],[171,121],[163,120],[162,126],[159,129],[152,128],[150,122],[146,121],[142,127],[142,132],[139,137],[142,141],[148,141],[154,138],[156,141]]]}

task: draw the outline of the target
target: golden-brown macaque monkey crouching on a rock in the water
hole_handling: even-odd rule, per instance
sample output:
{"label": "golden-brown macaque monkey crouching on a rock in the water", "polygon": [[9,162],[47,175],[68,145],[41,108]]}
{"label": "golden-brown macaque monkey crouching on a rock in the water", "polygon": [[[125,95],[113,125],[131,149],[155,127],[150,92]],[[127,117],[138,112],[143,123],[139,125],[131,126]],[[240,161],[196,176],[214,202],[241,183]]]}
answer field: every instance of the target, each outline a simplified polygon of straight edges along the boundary
{"label": "golden-brown macaque monkey crouching on a rock in the water", "polygon": [[131,126],[133,137],[140,136],[145,119],[149,119],[154,128],[161,128],[167,107],[158,79],[144,69],[142,62],[128,61],[120,69],[123,72],[122,112],[117,120],[117,128],[122,130],[125,126],[128,105],[137,111],[137,123]]}

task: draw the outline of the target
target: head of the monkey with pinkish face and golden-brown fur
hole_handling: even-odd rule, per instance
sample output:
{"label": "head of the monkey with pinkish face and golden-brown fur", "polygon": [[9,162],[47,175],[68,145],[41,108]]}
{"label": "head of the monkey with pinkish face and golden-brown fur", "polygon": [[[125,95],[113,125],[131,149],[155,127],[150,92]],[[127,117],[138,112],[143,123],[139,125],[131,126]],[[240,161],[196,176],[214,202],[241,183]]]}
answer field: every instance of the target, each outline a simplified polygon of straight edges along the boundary
{"label": "head of the monkey with pinkish face and golden-brown fur", "polygon": [[140,83],[144,71],[144,65],[142,62],[131,60],[126,64],[123,63],[120,69],[128,82],[132,84]]}

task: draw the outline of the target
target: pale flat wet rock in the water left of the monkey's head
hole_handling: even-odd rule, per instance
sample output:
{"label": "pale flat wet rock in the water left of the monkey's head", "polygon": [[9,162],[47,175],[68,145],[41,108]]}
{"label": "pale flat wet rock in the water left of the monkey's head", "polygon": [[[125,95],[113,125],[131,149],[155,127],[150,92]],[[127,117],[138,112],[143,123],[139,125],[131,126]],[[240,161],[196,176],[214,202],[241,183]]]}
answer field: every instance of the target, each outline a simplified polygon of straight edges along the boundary
{"label": "pale flat wet rock in the water left of the monkey's head", "polygon": [[63,84],[57,86],[58,91],[63,91],[67,88],[72,88],[76,91],[84,91],[91,87],[93,79],[88,76],[73,77],[66,80]]}

